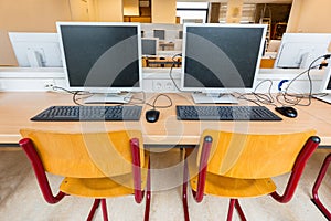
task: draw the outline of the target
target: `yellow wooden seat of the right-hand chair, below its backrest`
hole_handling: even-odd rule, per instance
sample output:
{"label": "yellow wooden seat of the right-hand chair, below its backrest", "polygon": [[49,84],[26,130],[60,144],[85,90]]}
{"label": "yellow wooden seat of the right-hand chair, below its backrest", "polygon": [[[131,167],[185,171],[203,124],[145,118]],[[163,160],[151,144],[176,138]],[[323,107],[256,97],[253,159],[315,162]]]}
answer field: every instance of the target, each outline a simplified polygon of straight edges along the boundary
{"label": "yellow wooden seat of the right-hand chair, below its backrest", "polygon": [[[197,176],[191,179],[191,188],[196,191]],[[276,191],[276,185],[267,179],[236,179],[211,172],[206,173],[204,192],[228,198],[248,198],[269,194]]]}

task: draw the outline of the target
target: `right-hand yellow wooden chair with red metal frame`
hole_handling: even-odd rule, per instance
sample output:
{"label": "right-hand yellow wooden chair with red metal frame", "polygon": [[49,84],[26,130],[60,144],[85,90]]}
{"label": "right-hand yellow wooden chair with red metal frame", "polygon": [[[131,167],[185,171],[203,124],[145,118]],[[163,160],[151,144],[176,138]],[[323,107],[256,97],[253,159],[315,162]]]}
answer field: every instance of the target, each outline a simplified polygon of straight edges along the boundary
{"label": "right-hand yellow wooden chair with red metal frame", "polygon": [[[278,202],[288,202],[307,160],[320,143],[314,134],[314,130],[281,135],[205,130],[199,149],[185,156],[182,196],[185,220],[190,220],[188,181],[196,202],[204,194],[229,198],[227,220],[232,220],[234,207],[241,219],[246,220],[239,198],[270,194]],[[291,175],[280,196],[271,177],[287,172]]]}

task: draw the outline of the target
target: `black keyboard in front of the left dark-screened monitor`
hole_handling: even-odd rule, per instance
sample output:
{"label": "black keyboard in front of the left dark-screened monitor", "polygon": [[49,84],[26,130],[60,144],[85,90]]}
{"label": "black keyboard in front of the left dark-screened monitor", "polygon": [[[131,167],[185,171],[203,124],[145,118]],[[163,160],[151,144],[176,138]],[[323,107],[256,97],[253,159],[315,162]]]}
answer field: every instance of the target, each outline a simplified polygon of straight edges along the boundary
{"label": "black keyboard in front of the left dark-screened monitor", "polygon": [[31,120],[36,122],[100,122],[139,120],[141,106],[51,106]]}

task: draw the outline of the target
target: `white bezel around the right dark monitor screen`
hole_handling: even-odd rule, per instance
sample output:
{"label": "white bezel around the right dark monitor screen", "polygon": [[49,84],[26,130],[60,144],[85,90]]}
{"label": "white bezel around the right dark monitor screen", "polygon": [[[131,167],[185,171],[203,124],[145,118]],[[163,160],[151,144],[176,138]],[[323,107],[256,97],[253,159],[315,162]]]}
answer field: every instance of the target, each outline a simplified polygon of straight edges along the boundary
{"label": "white bezel around the right dark monitor screen", "polygon": [[[254,80],[250,87],[188,87],[184,85],[184,75],[185,75],[185,51],[186,51],[186,29],[189,27],[214,27],[214,28],[254,28],[254,29],[263,29],[261,40],[260,40],[260,46],[256,63],[256,69],[254,73]],[[267,25],[266,24],[218,24],[218,23],[184,23],[183,24],[183,44],[182,44],[182,67],[181,67],[181,87],[180,90],[183,92],[201,92],[201,93],[207,93],[207,94],[222,94],[222,93],[234,93],[234,92],[252,92],[257,82],[257,74],[259,72],[260,66],[260,60],[264,52],[265,46],[265,40],[266,40],[266,33],[267,33]]]}

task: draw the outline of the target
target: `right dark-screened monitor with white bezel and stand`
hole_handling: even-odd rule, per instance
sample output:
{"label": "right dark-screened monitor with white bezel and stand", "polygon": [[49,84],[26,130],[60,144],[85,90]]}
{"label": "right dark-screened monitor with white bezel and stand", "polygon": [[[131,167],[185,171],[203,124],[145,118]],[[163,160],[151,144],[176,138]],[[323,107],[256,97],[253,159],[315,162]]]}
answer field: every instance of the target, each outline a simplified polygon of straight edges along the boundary
{"label": "right dark-screened monitor with white bezel and stand", "polygon": [[184,24],[181,90],[195,103],[237,103],[255,87],[265,24]]}

